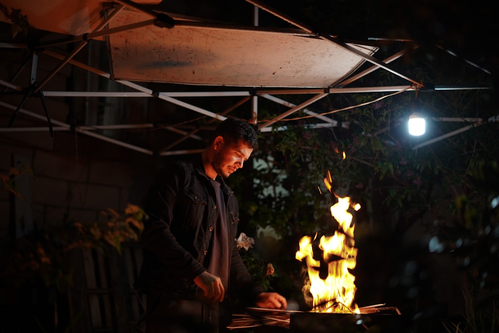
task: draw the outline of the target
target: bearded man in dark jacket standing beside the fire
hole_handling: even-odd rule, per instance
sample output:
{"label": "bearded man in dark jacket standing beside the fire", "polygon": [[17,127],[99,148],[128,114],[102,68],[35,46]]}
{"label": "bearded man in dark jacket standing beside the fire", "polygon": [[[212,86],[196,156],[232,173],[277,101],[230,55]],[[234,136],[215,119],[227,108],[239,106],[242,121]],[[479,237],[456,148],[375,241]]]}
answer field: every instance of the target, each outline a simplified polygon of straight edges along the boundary
{"label": "bearded man in dark jacket standing beside the fire", "polygon": [[252,285],[236,246],[238,201],[223,179],[257,146],[247,121],[228,118],[201,156],[168,165],[152,184],[136,283],[147,292],[146,333],[222,331],[232,295],[260,308],[287,307],[281,295]]}

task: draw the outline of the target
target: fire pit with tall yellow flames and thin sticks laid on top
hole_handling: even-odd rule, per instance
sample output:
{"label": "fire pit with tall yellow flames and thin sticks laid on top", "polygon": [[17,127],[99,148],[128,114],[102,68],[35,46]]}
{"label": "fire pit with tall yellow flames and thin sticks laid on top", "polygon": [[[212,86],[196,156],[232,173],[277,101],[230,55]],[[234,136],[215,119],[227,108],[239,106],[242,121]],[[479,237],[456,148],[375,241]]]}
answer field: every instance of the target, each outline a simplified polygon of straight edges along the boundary
{"label": "fire pit with tall yellow flames and thin sticks laid on top", "polygon": [[[360,209],[349,197],[339,197],[331,189],[331,175],[324,179],[327,189],[338,202],[331,206],[331,215],[338,222],[334,235],[323,235],[316,246],[315,237],[300,239],[297,260],[307,264],[308,279],[303,288],[305,299],[311,299],[309,312],[248,308],[247,314],[235,315],[229,329],[258,326],[279,326],[292,333],[361,333],[402,332],[403,317],[395,307],[378,304],[359,308],[354,302],[357,249],[354,247],[354,223],[351,208]],[[314,253],[315,252],[317,253]],[[319,251],[320,253],[319,254]],[[311,298],[310,298],[311,296]]]}

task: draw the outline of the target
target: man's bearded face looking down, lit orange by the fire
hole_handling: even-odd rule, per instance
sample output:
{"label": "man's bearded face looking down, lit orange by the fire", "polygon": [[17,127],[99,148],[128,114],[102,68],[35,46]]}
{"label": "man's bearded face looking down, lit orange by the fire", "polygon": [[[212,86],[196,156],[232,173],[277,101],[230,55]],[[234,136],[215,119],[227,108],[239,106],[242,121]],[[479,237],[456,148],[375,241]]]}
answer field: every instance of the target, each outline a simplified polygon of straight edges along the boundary
{"label": "man's bearded face looking down, lit orange by the fire", "polygon": [[213,169],[220,176],[227,178],[231,173],[243,167],[253,149],[240,140],[237,143],[225,141],[222,137],[215,140],[215,155],[213,156]]}

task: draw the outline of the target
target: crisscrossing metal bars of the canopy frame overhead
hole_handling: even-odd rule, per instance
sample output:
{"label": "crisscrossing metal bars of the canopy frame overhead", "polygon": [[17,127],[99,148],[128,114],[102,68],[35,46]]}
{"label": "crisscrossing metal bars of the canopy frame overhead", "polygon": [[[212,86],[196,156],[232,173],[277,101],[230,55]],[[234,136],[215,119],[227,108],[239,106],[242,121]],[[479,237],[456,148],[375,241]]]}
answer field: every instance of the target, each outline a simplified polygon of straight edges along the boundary
{"label": "crisscrossing metal bars of the canopy frame overhead", "polygon": [[[227,97],[227,96],[239,96],[242,97],[242,99],[234,105],[231,109],[237,107],[238,105],[241,105],[243,103],[250,102],[251,103],[251,115],[250,115],[250,122],[255,124],[258,128],[259,131],[261,132],[270,132],[272,130],[285,130],[286,126],[280,126],[277,128],[273,128],[274,124],[282,119],[285,119],[289,115],[302,110],[305,112],[307,115],[310,117],[314,117],[317,120],[317,123],[315,125],[312,125],[315,128],[330,128],[330,127],[335,127],[335,126],[341,126],[344,128],[348,128],[349,124],[345,122],[338,122],[332,119],[332,117],[327,117],[326,114],[332,114],[334,112],[338,112],[340,110],[332,110],[330,112],[326,112],[324,114],[317,114],[311,110],[308,110],[307,107],[311,105],[312,103],[324,98],[328,94],[334,94],[334,93],[369,93],[369,92],[391,92],[392,94],[397,94],[401,93],[404,91],[415,91],[419,89],[423,89],[424,85],[422,82],[418,82],[417,80],[407,77],[406,75],[399,73],[398,71],[394,70],[391,66],[390,63],[401,56],[404,55],[405,50],[402,50],[400,52],[397,52],[396,54],[393,54],[392,56],[384,59],[383,61],[374,58],[372,55],[366,54],[362,51],[360,51],[358,48],[352,47],[351,44],[345,43],[339,39],[337,39],[334,36],[325,34],[325,33],[320,33],[320,32],[315,32],[313,31],[310,27],[294,20],[293,18],[278,12],[274,10],[273,8],[270,8],[266,6],[264,3],[260,1],[255,1],[255,0],[246,0],[247,2],[251,3],[254,5],[255,12],[254,12],[254,23],[257,25],[257,10],[264,10],[268,13],[271,13],[272,15],[279,17],[283,20],[285,20],[288,23],[293,24],[296,26],[302,33],[303,35],[308,35],[312,36],[315,38],[320,38],[323,40],[326,40],[327,42],[334,43],[335,45],[339,45],[340,47],[348,50],[349,52],[354,53],[357,56],[362,57],[367,62],[370,62],[372,66],[368,69],[365,69],[359,73],[356,73],[355,75],[350,75],[349,77],[345,78],[341,82],[336,82],[336,83],[331,83],[331,85],[324,87],[324,88],[251,88],[251,89],[235,89],[234,91],[203,91],[203,92],[179,92],[179,91],[153,91],[152,89],[146,88],[140,84],[134,83],[132,81],[127,81],[127,80],[114,80],[115,82],[118,82],[124,86],[127,86],[129,88],[132,88],[135,90],[134,92],[105,92],[105,91],[43,91],[42,88],[45,86],[45,84],[65,65],[65,64],[71,64],[74,66],[77,66],[79,68],[82,68],[84,70],[87,70],[89,72],[95,73],[97,75],[100,75],[104,78],[107,79],[112,79],[112,75],[108,72],[102,71],[97,68],[93,68],[89,65],[86,65],[84,63],[78,62],[76,60],[73,60],[73,57],[83,48],[85,45],[88,43],[88,41],[92,38],[101,38],[105,36],[109,36],[110,34],[113,33],[118,33],[121,31],[126,31],[134,28],[139,28],[147,25],[155,25],[158,27],[162,28],[173,28],[175,26],[207,26],[209,25],[210,27],[216,27],[218,26],[217,24],[213,23],[206,23],[206,22],[196,22],[192,20],[182,20],[182,19],[174,19],[173,17],[162,13],[162,12],[157,12],[155,10],[150,9],[149,7],[130,1],[130,0],[117,0],[121,5],[114,7],[113,10],[109,10],[109,14],[106,17],[102,18],[102,21],[97,25],[96,28],[94,28],[91,32],[84,33],[81,35],[76,35],[76,36],[70,36],[69,38],[63,38],[63,39],[58,39],[50,42],[44,42],[40,43],[39,45],[36,45],[36,49],[40,49],[39,51],[33,51],[32,55],[32,68],[31,68],[31,77],[30,77],[30,89],[27,94],[24,96],[24,100],[27,97],[30,96],[36,96],[39,95],[42,98],[43,101],[43,96],[51,96],[51,97],[78,97],[78,96],[85,96],[85,97],[144,97],[144,98],[150,98],[150,97],[155,97],[159,98],[162,100],[165,100],[167,102],[179,105],[181,107],[184,107],[186,109],[195,111],[199,114],[202,114],[204,116],[208,116],[213,118],[213,121],[215,120],[224,120],[226,119],[226,115],[216,113],[195,105],[192,105],[190,103],[184,102],[178,98],[181,97]],[[135,10],[139,10],[141,12],[149,14],[152,18],[141,21],[141,22],[136,22],[133,24],[126,24],[120,27],[115,27],[115,28],[107,28],[105,29],[106,25],[110,21],[113,20],[113,18],[124,8],[133,8]],[[250,29],[250,27],[240,27],[242,29]],[[48,49],[48,47],[53,46],[53,45],[60,45],[64,43],[70,43],[74,41],[79,41],[79,44],[73,49],[73,51],[67,55],[61,55],[58,54],[54,51],[51,51]],[[13,47],[13,48],[26,48],[27,45],[24,44],[15,44],[15,43],[0,43],[0,47]],[[59,59],[61,62],[59,65],[54,68],[49,75],[47,75],[40,83],[36,82],[36,64],[37,64],[37,54],[38,52],[43,52],[51,57],[54,57],[56,59]],[[451,53],[452,54],[452,53]],[[399,76],[400,78],[403,78],[404,80],[408,81],[407,85],[397,85],[397,86],[385,86],[385,87],[359,87],[359,88],[349,88],[345,87],[346,85],[372,73],[375,70],[378,69],[384,69],[392,74],[395,74]],[[482,68],[480,68],[482,69]],[[484,69],[482,69],[484,70]],[[484,70],[486,71],[486,70]],[[487,71],[486,71],[487,72]],[[14,92],[22,92],[23,87],[14,84],[12,81],[8,80],[2,80],[0,78],[0,84],[6,87],[5,89],[13,89]],[[489,87],[484,87],[484,86],[434,86],[432,89],[435,90],[457,90],[457,89],[489,89]],[[312,94],[313,96],[306,99],[305,101],[301,102],[299,105],[295,105],[293,103],[290,103],[284,99],[281,99],[277,97],[278,95],[290,95],[290,94],[302,94],[302,95],[310,95]],[[386,96],[385,96],[386,97]],[[274,119],[261,122],[258,120],[258,99],[264,98],[267,100],[270,100],[272,102],[284,105],[286,107],[289,107],[289,109],[286,112],[283,112],[280,115],[277,115]],[[165,129],[174,131],[176,133],[179,133],[183,135],[183,138],[180,140],[177,140],[176,142],[168,145],[167,147],[164,147],[159,153],[152,151],[150,149],[144,148],[144,147],[139,147],[136,145],[132,145],[120,140],[116,140],[114,138],[95,133],[95,130],[99,129],[130,129],[130,128],[152,128],[155,126],[155,124],[148,123],[148,124],[125,124],[125,125],[86,125],[86,126],[77,126],[76,128],[71,128],[71,126],[65,122],[55,120],[55,119],[50,119],[49,115],[47,112],[45,112],[44,116],[41,116],[38,113],[31,112],[29,110],[25,110],[22,108],[23,102],[21,102],[20,105],[11,105],[8,103],[5,103],[3,101],[0,101],[0,106],[6,108],[6,109],[11,109],[14,110],[14,113],[12,114],[11,121],[9,123],[8,127],[3,127],[0,128],[0,132],[19,132],[19,131],[42,131],[46,130],[46,127],[11,127],[10,125],[12,124],[14,117],[17,112],[24,113],[26,115],[29,115],[33,118],[38,118],[40,120],[46,120],[50,131],[76,131],[81,134],[85,134],[103,141],[107,141],[125,148],[129,148],[144,154],[148,155],[154,155],[158,154],[160,156],[171,156],[171,155],[179,155],[179,154],[189,154],[189,153],[195,153],[201,151],[201,149],[192,149],[192,150],[173,150],[175,145],[180,143],[181,141],[184,141],[187,138],[194,138],[197,140],[202,140],[202,138],[198,137],[196,133],[198,132],[199,129],[194,129],[191,131],[185,131],[180,128],[176,128],[175,126],[167,126]],[[356,107],[352,106],[350,108]],[[343,109],[342,109],[343,110]],[[229,112],[230,110],[228,110]],[[54,126],[52,126],[52,124]],[[468,129],[468,128],[467,128]],[[456,133],[449,133],[449,135],[446,135],[445,137],[448,137],[450,135],[457,134],[461,131],[455,131]],[[52,133],[52,132],[51,132]],[[444,137],[442,137],[444,138]],[[442,139],[440,138],[440,139]],[[438,140],[438,139],[437,139]],[[418,147],[422,147],[426,144],[430,144],[435,142],[435,139],[429,140],[426,143],[420,143]],[[415,148],[418,148],[415,147]]]}

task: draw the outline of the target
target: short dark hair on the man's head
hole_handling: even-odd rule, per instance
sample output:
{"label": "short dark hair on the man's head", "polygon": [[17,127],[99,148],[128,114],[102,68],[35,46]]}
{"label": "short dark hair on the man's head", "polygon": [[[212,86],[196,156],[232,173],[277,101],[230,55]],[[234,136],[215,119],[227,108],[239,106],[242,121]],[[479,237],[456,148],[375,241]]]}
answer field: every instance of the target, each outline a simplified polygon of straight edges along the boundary
{"label": "short dark hair on the man's head", "polygon": [[215,140],[217,136],[221,135],[224,140],[230,142],[238,142],[243,140],[248,143],[248,146],[255,150],[258,148],[258,140],[256,138],[256,132],[254,131],[251,124],[243,119],[239,118],[227,118],[222,121],[215,132],[213,133],[212,141]]}

